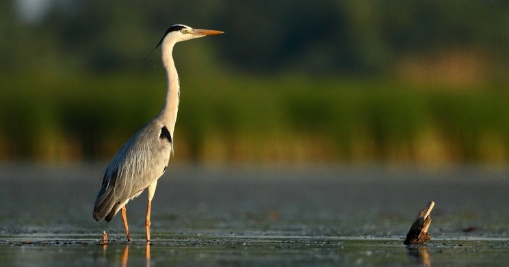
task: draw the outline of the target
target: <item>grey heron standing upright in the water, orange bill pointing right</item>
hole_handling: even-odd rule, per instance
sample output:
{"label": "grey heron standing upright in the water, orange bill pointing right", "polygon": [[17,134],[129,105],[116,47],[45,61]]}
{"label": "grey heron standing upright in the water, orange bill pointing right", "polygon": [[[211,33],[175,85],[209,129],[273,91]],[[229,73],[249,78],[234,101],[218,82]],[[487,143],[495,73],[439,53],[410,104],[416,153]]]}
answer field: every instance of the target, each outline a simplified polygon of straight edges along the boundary
{"label": "grey heron standing upright in the water, orange bill pointing right", "polygon": [[121,210],[127,240],[131,241],[127,226],[126,207],[129,200],[148,188],[146,210],[146,240],[150,242],[151,203],[157,179],[163,175],[170,154],[173,152],[173,130],[179,109],[179,76],[173,62],[173,46],[177,42],[207,35],[222,34],[210,29],[192,29],[185,25],[173,25],[166,31],[157,47],[162,47],[162,58],[168,75],[166,101],[159,115],[135,133],[113,157],[103,176],[103,187],[94,204],[94,219],[107,222]]}

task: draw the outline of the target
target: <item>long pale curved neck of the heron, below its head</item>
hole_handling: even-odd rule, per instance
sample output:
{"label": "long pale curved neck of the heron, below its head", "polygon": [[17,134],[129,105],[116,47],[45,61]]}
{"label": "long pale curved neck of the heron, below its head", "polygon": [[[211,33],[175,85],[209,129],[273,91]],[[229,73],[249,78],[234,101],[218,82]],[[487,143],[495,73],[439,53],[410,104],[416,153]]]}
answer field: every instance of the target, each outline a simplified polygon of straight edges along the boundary
{"label": "long pale curved neck of the heron, below its head", "polygon": [[179,110],[179,99],[180,99],[180,85],[179,75],[177,74],[177,68],[173,62],[173,46],[174,43],[167,43],[163,45],[163,64],[166,68],[166,75],[168,77],[168,90],[166,91],[166,99],[164,101],[163,108],[157,116],[164,121],[164,124],[173,136],[173,130],[175,128],[175,122],[177,121],[177,112]]}

